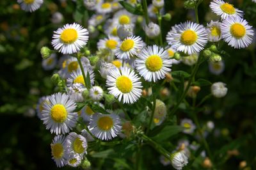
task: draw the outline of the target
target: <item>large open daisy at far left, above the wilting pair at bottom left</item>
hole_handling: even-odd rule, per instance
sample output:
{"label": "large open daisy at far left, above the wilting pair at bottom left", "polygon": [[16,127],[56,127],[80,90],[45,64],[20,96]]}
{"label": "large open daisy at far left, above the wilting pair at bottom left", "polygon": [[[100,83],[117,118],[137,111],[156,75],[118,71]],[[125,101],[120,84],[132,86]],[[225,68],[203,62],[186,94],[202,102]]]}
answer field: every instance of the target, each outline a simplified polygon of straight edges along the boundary
{"label": "large open daisy at far left, above the wilting pair at bottom left", "polygon": [[41,120],[46,129],[51,133],[66,134],[76,126],[76,103],[68,95],[55,93],[49,97],[49,103],[45,102]]}

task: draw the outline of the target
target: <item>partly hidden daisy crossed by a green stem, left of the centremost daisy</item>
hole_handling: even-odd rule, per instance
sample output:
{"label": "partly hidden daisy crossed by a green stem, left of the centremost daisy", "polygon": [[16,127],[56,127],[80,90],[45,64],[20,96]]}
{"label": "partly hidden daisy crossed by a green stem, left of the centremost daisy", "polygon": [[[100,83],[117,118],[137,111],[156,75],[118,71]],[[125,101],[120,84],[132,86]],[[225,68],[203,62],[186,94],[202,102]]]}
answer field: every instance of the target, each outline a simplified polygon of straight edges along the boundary
{"label": "partly hidden daisy crossed by a green stem, left of the centremost daisy", "polygon": [[[91,85],[92,85],[92,84],[94,84],[93,70],[90,69],[90,68],[84,67],[85,76],[87,76],[88,72],[89,72],[89,75],[90,75],[90,81],[91,81]],[[67,79],[67,86],[70,87],[74,83],[79,83],[79,84],[82,84],[85,87],[85,82],[84,81],[85,80],[84,80],[84,77],[83,77],[83,73],[82,73],[81,69],[79,69],[76,72],[72,72],[70,74],[70,77],[68,77],[68,79]]]}

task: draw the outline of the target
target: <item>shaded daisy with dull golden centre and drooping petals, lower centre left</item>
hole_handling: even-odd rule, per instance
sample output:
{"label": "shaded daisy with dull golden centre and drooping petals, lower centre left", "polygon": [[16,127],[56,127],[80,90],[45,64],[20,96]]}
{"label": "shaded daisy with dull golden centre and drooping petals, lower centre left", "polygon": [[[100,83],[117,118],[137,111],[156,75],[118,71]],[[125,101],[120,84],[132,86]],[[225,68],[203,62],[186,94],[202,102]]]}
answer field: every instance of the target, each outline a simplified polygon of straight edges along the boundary
{"label": "shaded daisy with dull golden centre and drooping petals, lower centre left", "polygon": [[98,139],[111,140],[121,131],[122,125],[118,115],[97,112],[92,116],[89,129]]}

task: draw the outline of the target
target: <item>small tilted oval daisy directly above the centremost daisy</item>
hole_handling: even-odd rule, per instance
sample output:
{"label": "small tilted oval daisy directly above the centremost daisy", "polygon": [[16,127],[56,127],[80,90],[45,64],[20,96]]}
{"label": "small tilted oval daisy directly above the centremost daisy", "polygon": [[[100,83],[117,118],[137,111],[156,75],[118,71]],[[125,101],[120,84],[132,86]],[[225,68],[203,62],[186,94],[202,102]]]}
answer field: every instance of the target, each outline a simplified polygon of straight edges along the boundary
{"label": "small tilted oval daisy directly above the centremost daisy", "polygon": [[142,48],[143,41],[140,36],[128,36],[118,44],[115,55],[120,59],[130,59],[132,56],[137,56]]}

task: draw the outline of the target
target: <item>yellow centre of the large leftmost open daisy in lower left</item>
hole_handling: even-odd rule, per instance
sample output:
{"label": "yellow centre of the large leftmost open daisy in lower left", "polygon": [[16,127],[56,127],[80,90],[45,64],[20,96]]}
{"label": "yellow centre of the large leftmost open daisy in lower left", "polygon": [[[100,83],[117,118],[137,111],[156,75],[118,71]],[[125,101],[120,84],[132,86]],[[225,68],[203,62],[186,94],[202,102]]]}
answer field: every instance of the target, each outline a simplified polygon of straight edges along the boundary
{"label": "yellow centre of the large leftmost open daisy in lower left", "polygon": [[62,104],[56,104],[51,109],[52,120],[63,123],[67,119],[67,110]]}

